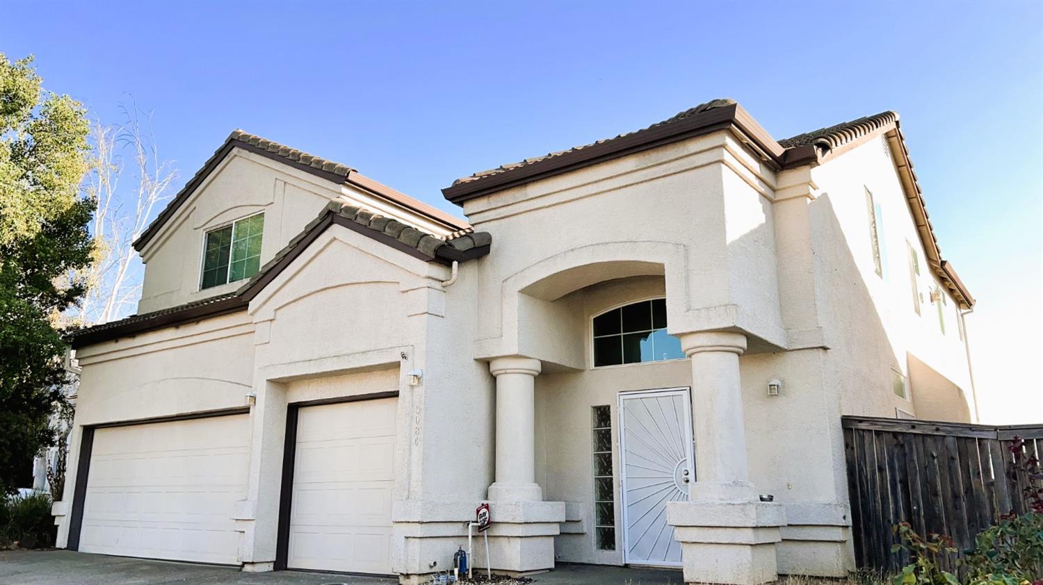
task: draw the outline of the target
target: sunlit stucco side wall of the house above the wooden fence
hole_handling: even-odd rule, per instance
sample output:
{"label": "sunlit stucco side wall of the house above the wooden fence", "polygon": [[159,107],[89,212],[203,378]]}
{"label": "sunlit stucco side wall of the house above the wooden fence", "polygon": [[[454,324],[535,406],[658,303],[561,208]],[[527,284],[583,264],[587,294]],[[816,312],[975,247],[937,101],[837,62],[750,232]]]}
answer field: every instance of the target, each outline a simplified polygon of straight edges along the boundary
{"label": "sunlit stucco side wall of the house above the wooden fence", "polygon": [[[812,171],[820,189],[809,203],[816,250],[827,268],[822,302],[827,307],[827,336],[832,370],[838,375],[844,414],[894,417],[895,409],[917,414],[913,399],[896,396],[891,368],[909,374],[907,356],[929,365],[957,386],[960,397],[974,420],[967,354],[961,339],[956,303],[940,287],[927,264],[890,150],[883,139],[868,143],[830,160]],[[877,225],[883,258],[882,275],[875,272],[870,238],[870,215],[866,190],[881,208]],[[916,278],[921,295],[920,314],[914,310],[906,243],[919,257]],[[941,331],[938,306],[930,291],[942,291],[945,332]],[[955,413],[955,409],[949,411]],[[935,411],[939,412],[939,411]]]}

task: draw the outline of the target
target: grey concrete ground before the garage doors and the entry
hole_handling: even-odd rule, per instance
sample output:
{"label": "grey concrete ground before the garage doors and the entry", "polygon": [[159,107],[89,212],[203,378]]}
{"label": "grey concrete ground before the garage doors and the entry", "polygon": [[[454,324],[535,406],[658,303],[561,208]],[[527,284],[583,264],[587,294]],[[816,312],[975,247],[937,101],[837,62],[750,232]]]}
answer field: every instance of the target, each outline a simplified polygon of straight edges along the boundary
{"label": "grey concrete ground before the garage doors and the entry", "polygon": [[[395,585],[393,578],[149,561],[71,551],[0,552],[0,585]],[[681,585],[679,570],[562,564],[533,577],[533,585]]]}

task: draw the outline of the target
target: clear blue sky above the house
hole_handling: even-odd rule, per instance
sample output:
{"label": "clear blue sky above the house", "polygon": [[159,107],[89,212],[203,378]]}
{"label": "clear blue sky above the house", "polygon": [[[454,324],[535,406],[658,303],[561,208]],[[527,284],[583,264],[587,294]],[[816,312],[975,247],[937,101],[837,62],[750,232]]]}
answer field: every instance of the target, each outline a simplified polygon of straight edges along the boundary
{"label": "clear blue sky above the house", "polygon": [[242,127],[457,214],[457,176],[713,97],[776,138],[895,109],[972,342],[1003,347],[979,386],[1043,419],[1041,6],[8,1],[0,51],[105,121],[132,94],[183,181]]}

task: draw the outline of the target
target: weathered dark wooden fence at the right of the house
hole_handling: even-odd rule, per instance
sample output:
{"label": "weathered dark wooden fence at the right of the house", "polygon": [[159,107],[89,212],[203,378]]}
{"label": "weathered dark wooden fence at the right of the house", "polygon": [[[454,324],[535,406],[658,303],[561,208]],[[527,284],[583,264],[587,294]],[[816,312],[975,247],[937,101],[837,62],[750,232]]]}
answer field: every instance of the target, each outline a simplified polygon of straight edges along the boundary
{"label": "weathered dark wooden fence at the right of the house", "polygon": [[[1043,456],[1043,424],[986,426],[843,417],[855,560],[894,572],[908,563],[892,527],[952,537],[957,551],[1001,514],[1027,510],[1024,473],[1012,473],[1015,437],[1024,458]],[[945,563],[952,570],[950,563]]]}

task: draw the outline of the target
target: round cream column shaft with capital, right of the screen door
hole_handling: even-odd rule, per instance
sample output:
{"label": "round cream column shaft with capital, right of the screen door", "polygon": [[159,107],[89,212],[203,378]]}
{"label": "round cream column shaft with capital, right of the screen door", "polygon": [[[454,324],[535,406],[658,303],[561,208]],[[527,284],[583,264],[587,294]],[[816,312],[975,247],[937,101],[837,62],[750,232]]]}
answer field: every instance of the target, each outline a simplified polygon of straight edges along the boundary
{"label": "round cream column shaft with capital, right of the screen door", "polygon": [[692,419],[696,434],[696,482],[688,488],[694,501],[753,499],[746,457],[743,387],[738,357],[746,336],[701,332],[681,336],[681,347],[692,361]]}

